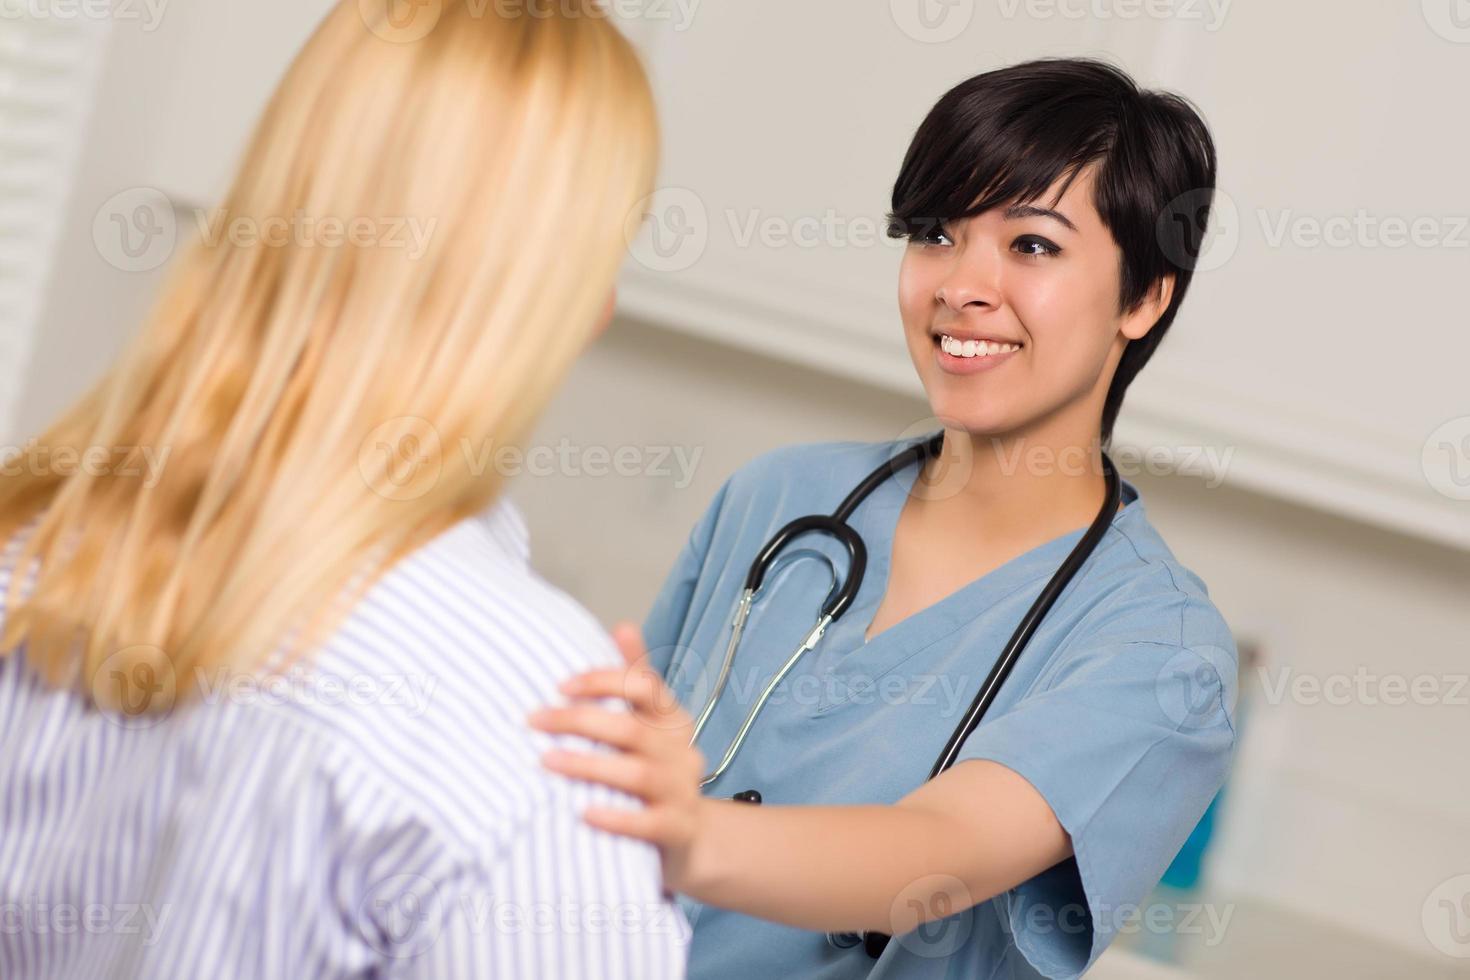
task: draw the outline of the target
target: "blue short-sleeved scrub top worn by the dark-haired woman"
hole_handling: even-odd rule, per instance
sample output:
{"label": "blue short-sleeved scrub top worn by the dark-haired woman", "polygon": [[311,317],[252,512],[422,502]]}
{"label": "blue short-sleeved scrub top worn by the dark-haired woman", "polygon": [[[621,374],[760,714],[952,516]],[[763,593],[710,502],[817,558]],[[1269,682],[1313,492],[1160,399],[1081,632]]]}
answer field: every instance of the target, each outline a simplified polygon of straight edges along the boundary
{"label": "blue short-sleeved scrub top worn by the dark-haired woman", "polygon": [[[913,442],[789,447],[726,480],[644,623],[654,667],[691,713],[713,686],[757,551],[786,522],[831,513]],[[707,795],[757,789],[764,804],[889,804],[920,786],[1022,616],[1085,532],[1048,541],[864,642],[916,476],[917,467],[907,467],[858,507],[853,526],[869,554],[861,591],[776,688]],[[1075,857],[895,936],[879,959],[861,946],[835,949],[823,933],[679,896],[694,930],[691,980],[1076,977],[1133,921],[1225,782],[1238,667],[1204,582],[1173,557],[1127,480],[1123,501],[956,763],[988,758],[1025,776],[1072,836]],[[831,538],[808,535],[792,547],[810,551],[767,574],[725,696],[700,738],[711,767],[816,621],[831,572],[814,552],[845,573],[845,552]]]}

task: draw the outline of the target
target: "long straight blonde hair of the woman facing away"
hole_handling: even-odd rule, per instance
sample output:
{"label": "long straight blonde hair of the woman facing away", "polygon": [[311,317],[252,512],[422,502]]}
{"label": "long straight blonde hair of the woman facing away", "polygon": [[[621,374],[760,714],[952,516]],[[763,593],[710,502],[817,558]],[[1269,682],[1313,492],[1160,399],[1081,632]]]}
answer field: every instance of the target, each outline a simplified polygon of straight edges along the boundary
{"label": "long straight blonde hair of the woman facing away", "polygon": [[[435,0],[422,37],[388,6],[328,15],[216,216],[368,219],[376,238],[194,242],[138,338],[37,439],[166,454],[157,482],[0,476],[0,651],[24,644],[54,686],[109,704],[125,692],[103,664],[184,679],[306,652],[494,501],[478,448],[526,436],[595,329],[656,166],[632,47],[594,0]],[[413,219],[422,254],[391,234]]]}

